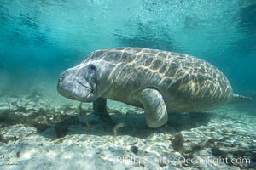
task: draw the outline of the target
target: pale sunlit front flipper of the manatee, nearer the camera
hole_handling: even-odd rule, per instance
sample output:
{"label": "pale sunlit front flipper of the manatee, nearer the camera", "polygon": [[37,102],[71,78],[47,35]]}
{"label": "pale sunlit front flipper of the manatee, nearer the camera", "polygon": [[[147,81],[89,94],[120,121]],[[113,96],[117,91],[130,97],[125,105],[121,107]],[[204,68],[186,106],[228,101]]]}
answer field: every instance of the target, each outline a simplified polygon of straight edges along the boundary
{"label": "pale sunlit front flipper of the manatee, nearer the camera", "polygon": [[165,101],[158,90],[145,88],[133,94],[132,99],[139,101],[145,110],[148,127],[160,127],[168,121]]}

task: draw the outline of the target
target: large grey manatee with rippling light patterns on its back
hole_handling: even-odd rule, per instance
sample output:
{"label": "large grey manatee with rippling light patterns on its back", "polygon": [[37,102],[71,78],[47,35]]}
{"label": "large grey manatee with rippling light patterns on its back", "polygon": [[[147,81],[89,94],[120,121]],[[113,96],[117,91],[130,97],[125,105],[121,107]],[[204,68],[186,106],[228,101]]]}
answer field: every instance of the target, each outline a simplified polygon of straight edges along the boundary
{"label": "large grey manatee with rippling light patterns on its back", "polygon": [[57,90],[69,99],[93,102],[106,122],[111,122],[107,99],[141,107],[148,127],[165,125],[168,113],[207,111],[247,99],[233,94],[227,77],[207,61],[150,48],[96,50],[61,74]]}

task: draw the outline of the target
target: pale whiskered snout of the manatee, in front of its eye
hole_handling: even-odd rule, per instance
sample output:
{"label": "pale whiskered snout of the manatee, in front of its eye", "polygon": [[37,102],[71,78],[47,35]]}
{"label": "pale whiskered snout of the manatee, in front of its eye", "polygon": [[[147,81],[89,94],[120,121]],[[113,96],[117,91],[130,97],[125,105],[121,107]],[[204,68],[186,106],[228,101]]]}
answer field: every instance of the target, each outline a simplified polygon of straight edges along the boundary
{"label": "pale whiskered snout of the manatee, in front of its eye", "polygon": [[94,100],[95,91],[91,83],[81,70],[72,68],[61,74],[57,90],[59,94],[68,99],[91,102]]}

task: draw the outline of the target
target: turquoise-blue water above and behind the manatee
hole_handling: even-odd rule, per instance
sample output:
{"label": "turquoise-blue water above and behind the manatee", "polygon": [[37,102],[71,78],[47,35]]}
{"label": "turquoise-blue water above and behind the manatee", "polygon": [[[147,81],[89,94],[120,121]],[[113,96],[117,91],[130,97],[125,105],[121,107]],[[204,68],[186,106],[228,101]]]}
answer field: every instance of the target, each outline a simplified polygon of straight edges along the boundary
{"label": "turquoise-blue water above and behind the manatee", "polygon": [[236,93],[255,95],[255,16],[255,0],[1,0],[1,94],[55,91],[91,51],[131,46],[206,59]]}

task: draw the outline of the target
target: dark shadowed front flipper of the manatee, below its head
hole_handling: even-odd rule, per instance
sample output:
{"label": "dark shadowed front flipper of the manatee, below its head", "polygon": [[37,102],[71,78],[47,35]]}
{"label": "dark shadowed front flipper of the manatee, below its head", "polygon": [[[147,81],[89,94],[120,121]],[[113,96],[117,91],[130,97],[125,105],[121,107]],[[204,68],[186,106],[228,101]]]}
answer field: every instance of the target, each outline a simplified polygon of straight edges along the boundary
{"label": "dark shadowed front flipper of the manatee, below its head", "polygon": [[98,98],[93,102],[93,110],[96,116],[99,116],[103,122],[112,124],[111,117],[107,111],[107,99]]}

